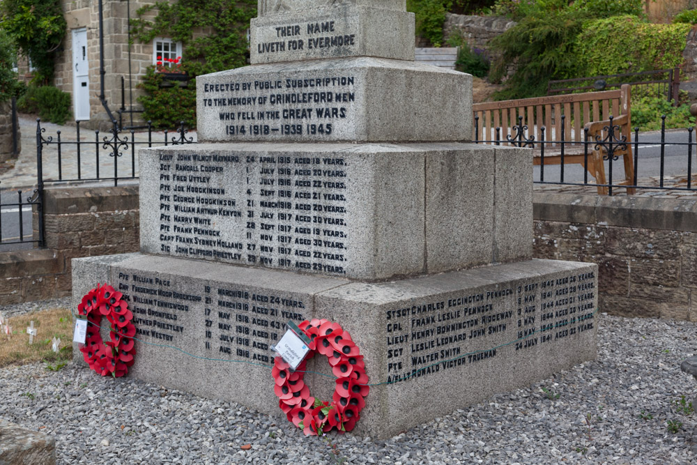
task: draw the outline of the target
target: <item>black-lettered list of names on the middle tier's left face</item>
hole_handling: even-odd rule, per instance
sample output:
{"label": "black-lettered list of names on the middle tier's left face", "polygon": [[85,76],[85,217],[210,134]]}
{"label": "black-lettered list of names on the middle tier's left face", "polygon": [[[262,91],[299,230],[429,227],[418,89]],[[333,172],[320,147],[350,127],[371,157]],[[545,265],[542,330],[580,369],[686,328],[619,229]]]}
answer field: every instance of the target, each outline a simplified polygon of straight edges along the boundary
{"label": "black-lettered list of names on the middle tier's left face", "polygon": [[345,275],[346,159],[160,155],[160,253]]}

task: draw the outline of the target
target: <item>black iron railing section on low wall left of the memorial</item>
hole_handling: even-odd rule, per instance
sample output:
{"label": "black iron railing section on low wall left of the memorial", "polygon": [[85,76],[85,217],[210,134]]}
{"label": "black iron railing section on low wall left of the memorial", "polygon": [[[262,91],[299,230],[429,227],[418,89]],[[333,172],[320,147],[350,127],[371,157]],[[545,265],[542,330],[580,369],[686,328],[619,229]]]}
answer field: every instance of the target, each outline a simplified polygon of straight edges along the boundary
{"label": "black iron railing section on low wall left of the memorial", "polygon": [[[169,130],[164,130],[163,138],[153,140],[153,126],[150,121],[146,132],[136,132],[130,129],[130,136],[124,136],[123,131],[114,123],[113,128],[103,135],[99,130],[94,131],[93,140],[82,140],[80,121],[75,122],[77,140],[64,140],[61,131],[56,131],[56,137],[44,137],[45,128],[41,127],[41,121],[36,120],[36,151],[37,151],[37,177],[41,183],[80,183],[93,181],[113,181],[118,185],[119,181],[137,179],[137,147],[168,146],[179,144],[194,144],[193,137],[187,137],[188,131],[181,121],[176,129],[176,136],[171,137]],[[138,140],[137,137],[141,137]],[[45,153],[47,148],[55,148],[55,158]],[[66,157],[72,158],[66,162]],[[42,162],[54,163],[54,174],[45,176]],[[119,163],[119,160],[125,160]],[[68,166],[66,166],[66,164]],[[69,169],[66,170],[66,167]]]}

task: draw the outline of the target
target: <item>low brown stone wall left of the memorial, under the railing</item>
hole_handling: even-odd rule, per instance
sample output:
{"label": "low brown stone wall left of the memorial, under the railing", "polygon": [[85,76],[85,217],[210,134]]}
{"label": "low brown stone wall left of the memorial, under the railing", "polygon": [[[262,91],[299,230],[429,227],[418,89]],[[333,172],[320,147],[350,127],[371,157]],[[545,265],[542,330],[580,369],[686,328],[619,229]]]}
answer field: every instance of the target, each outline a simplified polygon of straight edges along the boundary
{"label": "low brown stone wall left of the memorial, under the railing", "polygon": [[[70,296],[71,259],[138,250],[137,187],[51,189],[44,198],[47,248],[0,252],[0,305]],[[35,238],[37,224],[35,211]]]}

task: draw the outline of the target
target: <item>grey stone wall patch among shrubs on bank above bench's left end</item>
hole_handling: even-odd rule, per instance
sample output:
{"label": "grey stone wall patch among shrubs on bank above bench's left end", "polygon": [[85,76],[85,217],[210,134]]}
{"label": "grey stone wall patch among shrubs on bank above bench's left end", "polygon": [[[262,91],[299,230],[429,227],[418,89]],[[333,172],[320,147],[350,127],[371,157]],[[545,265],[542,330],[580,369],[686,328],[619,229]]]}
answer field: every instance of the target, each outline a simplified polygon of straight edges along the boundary
{"label": "grey stone wall patch among shrubs on bank above bench's left end", "polygon": [[496,59],[497,54],[492,54],[489,49],[489,40],[504,33],[515,26],[515,22],[505,17],[498,16],[468,16],[445,14],[445,24],[443,25],[443,36],[445,40],[454,33],[460,31],[467,40],[471,48],[485,49],[489,52],[492,59]]}

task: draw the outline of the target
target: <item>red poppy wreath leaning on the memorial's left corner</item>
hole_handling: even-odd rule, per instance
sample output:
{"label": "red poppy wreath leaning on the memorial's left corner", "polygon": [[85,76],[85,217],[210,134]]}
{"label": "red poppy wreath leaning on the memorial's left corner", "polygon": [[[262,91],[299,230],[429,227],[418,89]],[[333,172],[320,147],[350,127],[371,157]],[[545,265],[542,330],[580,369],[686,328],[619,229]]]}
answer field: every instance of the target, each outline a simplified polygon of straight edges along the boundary
{"label": "red poppy wreath leaning on the memorial's left corner", "polygon": [[[91,369],[102,376],[124,376],[133,365],[135,356],[135,326],[133,314],[121,292],[105,284],[89,291],[77,305],[77,312],[87,317],[85,344],[80,348]],[[99,333],[102,317],[112,325],[111,340],[104,342]]]}

